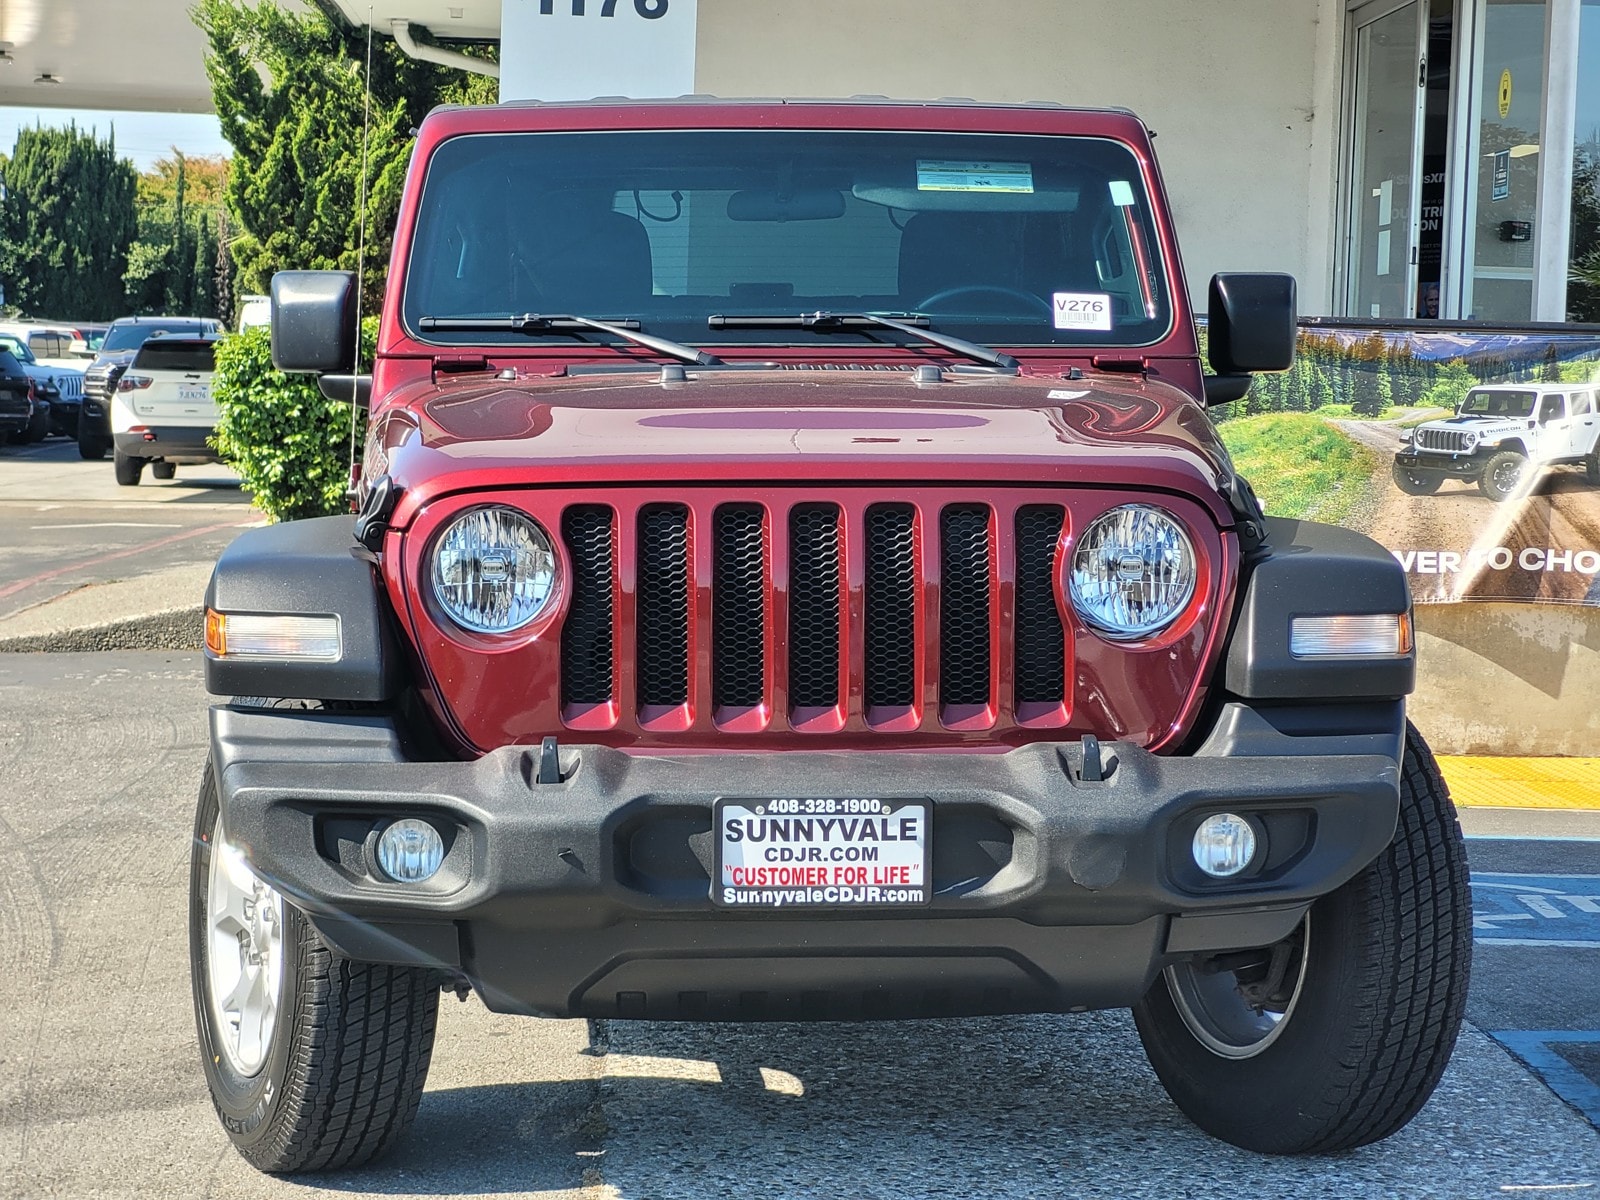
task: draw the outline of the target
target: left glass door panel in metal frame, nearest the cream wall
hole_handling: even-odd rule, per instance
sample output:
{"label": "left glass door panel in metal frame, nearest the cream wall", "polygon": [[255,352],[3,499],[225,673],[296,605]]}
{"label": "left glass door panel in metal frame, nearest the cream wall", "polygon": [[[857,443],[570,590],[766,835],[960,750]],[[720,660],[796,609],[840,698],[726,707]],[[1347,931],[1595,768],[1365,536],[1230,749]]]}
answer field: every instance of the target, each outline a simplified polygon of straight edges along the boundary
{"label": "left glass door panel in metal frame, nearest the cream wall", "polygon": [[1421,0],[1350,13],[1350,166],[1346,194],[1344,310],[1411,317],[1416,307],[1422,166],[1424,16]]}

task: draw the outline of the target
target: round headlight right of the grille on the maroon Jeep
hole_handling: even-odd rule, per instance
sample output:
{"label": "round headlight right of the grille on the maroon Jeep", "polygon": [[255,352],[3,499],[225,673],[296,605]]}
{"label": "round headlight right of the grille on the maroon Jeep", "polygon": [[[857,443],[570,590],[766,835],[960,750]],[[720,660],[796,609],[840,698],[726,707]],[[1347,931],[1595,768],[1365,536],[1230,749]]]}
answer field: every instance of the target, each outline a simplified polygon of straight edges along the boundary
{"label": "round headlight right of the grille on the maroon Jeep", "polygon": [[1104,637],[1150,637],[1176,621],[1194,595],[1195,550],[1168,514],[1123,504],[1083,531],[1067,590],[1078,616]]}

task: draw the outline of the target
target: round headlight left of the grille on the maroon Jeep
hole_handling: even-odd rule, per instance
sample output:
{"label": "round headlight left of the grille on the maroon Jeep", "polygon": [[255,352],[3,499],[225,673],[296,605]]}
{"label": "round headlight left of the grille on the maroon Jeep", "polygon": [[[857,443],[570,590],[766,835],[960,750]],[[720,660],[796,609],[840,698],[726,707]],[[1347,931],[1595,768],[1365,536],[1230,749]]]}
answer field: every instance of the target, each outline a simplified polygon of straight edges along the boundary
{"label": "round headlight left of the grille on the maroon Jeep", "polygon": [[550,603],[555,570],[555,550],[536,522],[515,509],[474,509],[434,549],[434,597],[462,629],[509,634]]}

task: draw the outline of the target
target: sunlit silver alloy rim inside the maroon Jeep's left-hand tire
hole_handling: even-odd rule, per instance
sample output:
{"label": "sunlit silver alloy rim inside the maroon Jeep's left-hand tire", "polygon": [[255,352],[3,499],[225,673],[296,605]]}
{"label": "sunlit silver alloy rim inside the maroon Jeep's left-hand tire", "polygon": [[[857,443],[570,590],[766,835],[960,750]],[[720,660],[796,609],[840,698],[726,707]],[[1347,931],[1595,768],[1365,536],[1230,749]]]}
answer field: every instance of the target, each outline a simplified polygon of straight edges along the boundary
{"label": "sunlit silver alloy rim inside the maroon Jeep's left-hand tire", "polygon": [[206,882],[206,1000],[216,1040],[240,1075],[261,1070],[272,1048],[283,989],[283,898],[211,826]]}

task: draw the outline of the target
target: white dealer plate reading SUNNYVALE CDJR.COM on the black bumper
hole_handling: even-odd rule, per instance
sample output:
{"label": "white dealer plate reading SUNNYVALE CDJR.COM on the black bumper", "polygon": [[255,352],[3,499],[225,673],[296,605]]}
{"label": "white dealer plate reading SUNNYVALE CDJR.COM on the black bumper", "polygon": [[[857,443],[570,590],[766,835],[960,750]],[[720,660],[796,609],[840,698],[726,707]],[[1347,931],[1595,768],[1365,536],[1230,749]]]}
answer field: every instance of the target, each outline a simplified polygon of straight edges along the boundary
{"label": "white dealer plate reading SUNNYVALE CDJR.COM on the black bumper", "polygon": [[712,901],[730,909],[888,909],[931,896],[933,802],[867,797],[714,806]]}

